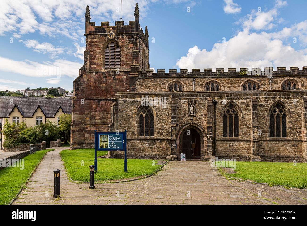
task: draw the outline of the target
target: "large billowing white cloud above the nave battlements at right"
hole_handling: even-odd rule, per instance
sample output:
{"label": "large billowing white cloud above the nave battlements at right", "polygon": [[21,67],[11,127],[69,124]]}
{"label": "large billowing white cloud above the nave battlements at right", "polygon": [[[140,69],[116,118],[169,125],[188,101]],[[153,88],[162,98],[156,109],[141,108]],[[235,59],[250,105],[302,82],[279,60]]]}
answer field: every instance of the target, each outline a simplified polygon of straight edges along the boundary
{"label": "large billowing white cloud above the nave battlements at right", "polygon": [[294,50],[274,37],[274,33],[239,32],[224,43],[216,43],[212,50],[194,46],[186,56],[177,60],[179,68],[237,68],[307,66],[307,49]]}

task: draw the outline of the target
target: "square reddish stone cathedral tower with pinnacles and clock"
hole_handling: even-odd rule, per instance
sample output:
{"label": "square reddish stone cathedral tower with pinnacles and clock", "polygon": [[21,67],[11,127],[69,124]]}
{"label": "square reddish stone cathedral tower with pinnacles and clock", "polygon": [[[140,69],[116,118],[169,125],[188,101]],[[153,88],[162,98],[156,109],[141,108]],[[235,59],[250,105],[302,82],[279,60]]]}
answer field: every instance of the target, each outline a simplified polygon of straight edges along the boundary
{"label": "square reddish stone cathedral tower with pinnacles and clock", "polygon": [[138,74],[149,69],[148,29],[144,34],[140,27],[138,3],[129,25],[116,21],[115,26],[96,26],[88,6],[84,17],[86,49],[74,81],[71,149],[94,147],[94,130],[108,131],[112,123],[115,94],[135,91]]}

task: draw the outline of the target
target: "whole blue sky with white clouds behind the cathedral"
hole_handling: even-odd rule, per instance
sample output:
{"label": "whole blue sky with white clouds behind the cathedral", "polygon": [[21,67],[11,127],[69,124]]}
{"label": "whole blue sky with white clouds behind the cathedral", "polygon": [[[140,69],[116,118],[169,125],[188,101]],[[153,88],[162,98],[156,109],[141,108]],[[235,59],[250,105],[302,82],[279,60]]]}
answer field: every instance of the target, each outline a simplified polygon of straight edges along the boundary
{"label": "whole blue sky with white clouds behind the cathedral", "polygon": [[[135,1],[122,2],[122,18],[129,23]],[[120,0],[2,1],[0,90],[72,90],[83,64],[86,5],[96,25],[120,18]],[[141,0],[138,5],[155,70],[307,66],[306,1]]]}

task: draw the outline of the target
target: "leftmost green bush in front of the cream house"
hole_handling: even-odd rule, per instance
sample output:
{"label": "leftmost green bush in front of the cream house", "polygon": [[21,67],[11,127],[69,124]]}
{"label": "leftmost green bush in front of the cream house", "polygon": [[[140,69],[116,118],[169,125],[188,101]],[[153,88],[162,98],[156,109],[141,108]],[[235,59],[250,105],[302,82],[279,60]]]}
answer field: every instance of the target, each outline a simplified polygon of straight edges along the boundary
{"label": "leftmost green bush in front of the cream house", "polygon": [[18,123],[9,123],[6,119],[6,123],[3,126],[2,133],[5,136],[5,141],[3,142],[3,147],[12,148],[16,147],[21,143],[28,143],[25,138],[25,130],[27,125],[23,122]]}

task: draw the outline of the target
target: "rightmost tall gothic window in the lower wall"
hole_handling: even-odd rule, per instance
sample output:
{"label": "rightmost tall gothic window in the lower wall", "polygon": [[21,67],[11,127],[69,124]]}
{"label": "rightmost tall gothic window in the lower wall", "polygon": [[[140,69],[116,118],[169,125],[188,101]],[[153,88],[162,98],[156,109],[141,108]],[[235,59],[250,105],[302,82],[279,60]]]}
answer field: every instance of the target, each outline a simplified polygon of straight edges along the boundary
{"label": "rightmost tall gothic window in the lower wall", "polygon": [[271,107],[270,137],[287,137],[286,107],[279,101]]}

